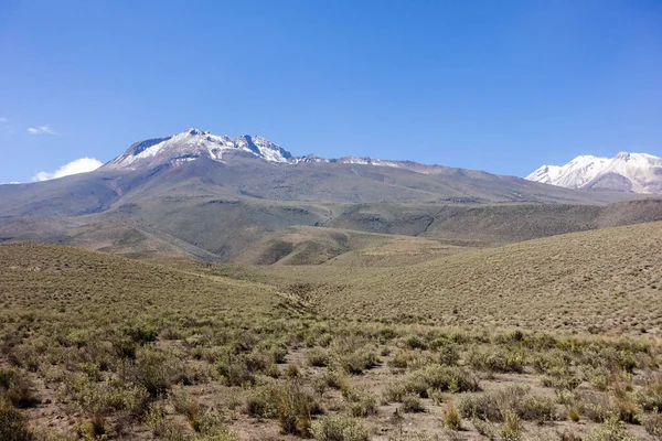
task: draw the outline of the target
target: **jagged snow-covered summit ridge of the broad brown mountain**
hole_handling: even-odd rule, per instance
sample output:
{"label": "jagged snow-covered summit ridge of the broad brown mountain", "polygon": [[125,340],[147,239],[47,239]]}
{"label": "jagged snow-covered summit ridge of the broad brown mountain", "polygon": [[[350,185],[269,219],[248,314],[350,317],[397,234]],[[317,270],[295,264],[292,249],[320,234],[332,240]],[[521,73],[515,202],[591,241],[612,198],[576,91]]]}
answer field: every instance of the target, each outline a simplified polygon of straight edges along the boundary
{"label": "jagged snow-covered summit ridge of the broad brown mountain", "polygon": [[298,164],[310,162],[345,163],[382,166],[401,166],[398,161],[384,161],[374,158],[344,157],[325,159],[316,154],[292,157],[291,153],[266,138],[244,135],[237,138],[217,136],[209,131],[189,129],[166,138],[153,138],[139,141],[129,147],[122,154],[104,165],[109,170],[135,170],[142,166],[156,166],[162,163],[182,163],[209,158],[225,162],[229,153],[255,155],[268,162]]}

